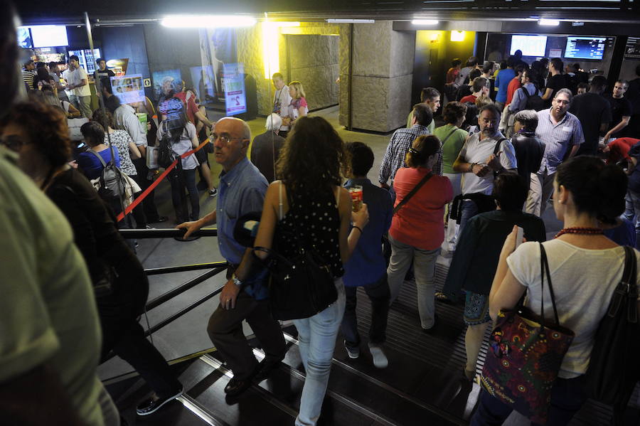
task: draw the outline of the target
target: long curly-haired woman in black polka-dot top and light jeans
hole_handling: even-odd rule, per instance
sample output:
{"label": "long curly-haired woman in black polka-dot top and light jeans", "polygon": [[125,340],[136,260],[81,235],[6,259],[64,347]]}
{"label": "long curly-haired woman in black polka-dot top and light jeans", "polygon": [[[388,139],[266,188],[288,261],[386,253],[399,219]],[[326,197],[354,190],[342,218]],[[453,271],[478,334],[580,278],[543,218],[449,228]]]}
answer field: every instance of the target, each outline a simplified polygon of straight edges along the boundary
{"label": "long curly-haired woman in black polka-dot top and light jeans", "polygon": [[[329,266],[338,299],[318,314],[294,319],[300,356],[306,371],[296,425],[316,425],[326,393],[331,356],[345,307],[343,264],[368,222],[366,205],[353,213],[351,196],[341,187],[346,163],[344,143],[321,117],[301,117],[289,133],[277,163],[281,181],[267,189],[256,247],[277,247],[284,257],[296,255],[296,235],[302,247],[314,247]],[[265,259],[265,252],[256,251]],[[245,257],[245,259],[250,257]],[[236,271],[242,281],[245,267]]]}

